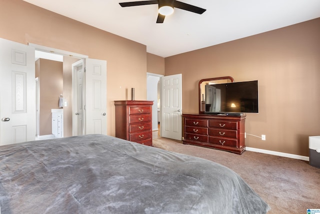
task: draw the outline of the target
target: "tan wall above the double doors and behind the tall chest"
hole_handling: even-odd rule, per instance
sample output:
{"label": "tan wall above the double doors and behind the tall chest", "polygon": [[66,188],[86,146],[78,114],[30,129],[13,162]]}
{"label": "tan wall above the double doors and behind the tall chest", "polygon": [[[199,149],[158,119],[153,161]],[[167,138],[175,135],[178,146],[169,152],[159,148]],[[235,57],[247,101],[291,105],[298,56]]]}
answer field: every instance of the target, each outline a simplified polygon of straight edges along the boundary
{"label": "tan wall above the double doors and behind the tall chest", "polygon": [[114,100],[146,99],[146,47],[21,0],[0,0],[0,38],[107,61],[107,134],[114,136]]}

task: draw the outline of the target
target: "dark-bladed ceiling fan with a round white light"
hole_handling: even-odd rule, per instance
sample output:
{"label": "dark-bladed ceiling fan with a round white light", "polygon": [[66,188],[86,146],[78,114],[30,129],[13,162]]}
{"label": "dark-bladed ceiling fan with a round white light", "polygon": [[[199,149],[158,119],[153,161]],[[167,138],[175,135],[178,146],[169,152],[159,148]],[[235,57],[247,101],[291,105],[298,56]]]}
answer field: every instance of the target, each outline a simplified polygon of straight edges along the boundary
{"label": "dark-bladed ceiling fan with a round white light", "polygon": [[203,14],[206,10],[193,5],[185,4],[176,0],[150,0],[138,2],[119,3],[121,7],[141,6],[141,5],[156,5],[158,4],[159,13],[156,23],[163,23],[165,16],[173,13],[173,8],[182,9],[196,14]]}

